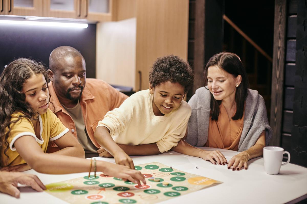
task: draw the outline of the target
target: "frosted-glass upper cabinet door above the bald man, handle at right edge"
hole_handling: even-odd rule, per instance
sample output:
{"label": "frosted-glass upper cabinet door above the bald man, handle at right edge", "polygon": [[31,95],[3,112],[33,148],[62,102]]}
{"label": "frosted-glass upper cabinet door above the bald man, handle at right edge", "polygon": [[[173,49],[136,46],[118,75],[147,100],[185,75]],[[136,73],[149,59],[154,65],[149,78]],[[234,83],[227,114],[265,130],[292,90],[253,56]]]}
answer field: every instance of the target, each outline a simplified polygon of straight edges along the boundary
{"label": "frosted-glass upper cabinet door above the bald man, handle at right edge", "polygon": [[44,16],[80,18],[82,0],[44,0]]}

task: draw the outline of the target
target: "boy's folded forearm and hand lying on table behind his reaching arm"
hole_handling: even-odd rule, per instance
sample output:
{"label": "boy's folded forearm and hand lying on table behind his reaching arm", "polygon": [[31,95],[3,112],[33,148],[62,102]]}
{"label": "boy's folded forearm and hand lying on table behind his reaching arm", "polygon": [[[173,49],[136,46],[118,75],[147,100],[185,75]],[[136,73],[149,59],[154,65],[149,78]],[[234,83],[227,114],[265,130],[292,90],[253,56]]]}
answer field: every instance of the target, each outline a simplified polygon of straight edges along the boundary
{"label": "boy's folded forearm and hand lying on table behind his reaching arm", "polygon": [[[132,155],[156,155],[161,154],[159,151],[159,148],[157,146],[157,143],[151,143],[151,144],[141,144],[141,145],[125,145],[125,144],[118,144],[122,150],[126,152],[126,154],[132,156]],[[112,157],[112,155],[105,149],[100,148],[97,150],[99,153],[99,156],[102,157]]]}

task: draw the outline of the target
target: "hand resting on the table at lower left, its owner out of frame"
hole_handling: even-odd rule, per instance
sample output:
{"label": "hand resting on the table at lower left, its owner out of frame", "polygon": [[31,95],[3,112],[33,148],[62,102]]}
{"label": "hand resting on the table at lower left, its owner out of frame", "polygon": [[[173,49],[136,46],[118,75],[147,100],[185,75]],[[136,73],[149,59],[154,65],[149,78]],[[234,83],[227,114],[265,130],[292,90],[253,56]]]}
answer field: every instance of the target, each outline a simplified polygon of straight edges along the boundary
{"label": "hand resting on the table at lower left, its owner out of frame", "polygon": [[0,192],[19,198],[18,183],[31,186],[39,192],[46,190],[46,187],[37,176],[18,172],[0,172]]}

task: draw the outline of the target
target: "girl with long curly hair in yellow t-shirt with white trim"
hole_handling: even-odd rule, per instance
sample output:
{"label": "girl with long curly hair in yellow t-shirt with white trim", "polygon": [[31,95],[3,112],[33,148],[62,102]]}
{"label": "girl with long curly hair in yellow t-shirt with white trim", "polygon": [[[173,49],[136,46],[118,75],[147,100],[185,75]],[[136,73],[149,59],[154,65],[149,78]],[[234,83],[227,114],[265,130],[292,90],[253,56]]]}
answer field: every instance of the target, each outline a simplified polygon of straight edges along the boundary
{"label": "girl with long curly hair in yellow t-shirt with white trim", "polygon": [[[27,163],[37,172],[65,174],[94,171],[84,150],[49,106],[48,76],[43,65],[20,58],[0,77],[0,166]],[[61,150],[45,154],[49,141]],[[74,157],[71,157],[74,156]],[[79,158],[78,158],[79,157]],[[140,172],[123,165],[95,161],[97,171],[140,184]],[[2,168],[3,170],[3,168]]]}

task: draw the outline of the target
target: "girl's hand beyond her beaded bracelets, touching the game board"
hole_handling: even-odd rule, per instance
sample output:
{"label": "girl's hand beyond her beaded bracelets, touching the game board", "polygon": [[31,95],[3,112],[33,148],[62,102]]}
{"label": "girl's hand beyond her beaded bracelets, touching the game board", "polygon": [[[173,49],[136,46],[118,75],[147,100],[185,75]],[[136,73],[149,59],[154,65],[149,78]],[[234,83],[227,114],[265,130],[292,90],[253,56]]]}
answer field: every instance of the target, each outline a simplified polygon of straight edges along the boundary
{"label": "girl's hand beyond her beaded bracelets, touching the game board", "polygon": [[109,176],[114,176],[117,178],[122,178],[123,180],[132,181],[135,184],[141,186],[141,182],[146,184],[146,180],[140,171],[130,169],[128,166],[117,165],[117,164],[108,164],[105,166],[103,171],[104,174]]}

